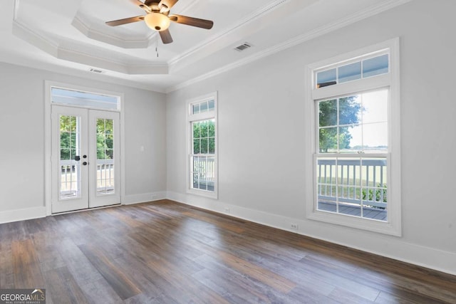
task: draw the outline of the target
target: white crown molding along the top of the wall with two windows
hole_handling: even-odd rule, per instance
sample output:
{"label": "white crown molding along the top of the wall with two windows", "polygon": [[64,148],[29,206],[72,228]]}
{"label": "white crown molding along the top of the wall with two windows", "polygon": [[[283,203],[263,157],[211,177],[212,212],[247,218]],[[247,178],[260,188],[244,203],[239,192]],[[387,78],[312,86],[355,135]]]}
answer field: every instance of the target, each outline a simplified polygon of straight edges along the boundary
{"label": "white crown molding along the top of the wall with two windows", "polygon": [[[284,0],[286,1],[286,0]],[[281,1],[281,2],[284,2]],[[271,48],[267,48],[264,51],[260,51],[257,53],[252,54],[251,56],[248,56],[246,58],[243,58],[239,61],[234,61],[234,63],[229,63],[228,65],[224,65],[222,68],[217,68],[215,70],[212,70],[209,73],[205,73],[203,75],[200,75],[196,78],[192,78],[190,80],[186,80],[182,83],[179,83],[177,85],[173,85],[165,90],[166,93],[172,93],[175,90],[180,90],[182,88],[185,88],[189,85],[199,83],[200,81],[206,80],[208,78],[212,78],[216,75],[220,75],[222,73],[226,73],[229,70],[233,70],[235,68],[239,68],[242,65],[247,65],[248,63],[252,63],[254,61],[257,61],[261,58],[265,58],[267,56],[271,56],[275,53],[279,53],[280,51],[284,51],[288,48],[292,48],[294,46],[298,46],[301,43],[304,43],[306,41],[309,41],[311,39],[314,39],[318,36],[323,36],[326,33],[330,33],[331,31],[336,31],[339,28],[343,28],[345,26],[348,26],[352,23],[356,23],[358,21],[361,21],[363,19],[367,19],[368,17],[375,16],[376,14],[380,14],[383,11],[388,11],[389,9],[393,9],[396,6],[400,6],[403,4],[406,4],[410,1],[413,0],[389,0],[387,2],[379,3],[375,6],[371,6],[368,9],[364,9],[362,11],[359,11],[356,14],[351,14],[350,16],[347,16],[343,19],[339,19],[337,21],[334,21],[333,23],[328,23],[326,26],[321,26],[320,28],[316,28],[314,31],[309,31],[306,32],[300,36],[296,36],[295,38],[289,39],[288,41],[285,41],[284,43],[279,43],[276,46],[272,46]]]}

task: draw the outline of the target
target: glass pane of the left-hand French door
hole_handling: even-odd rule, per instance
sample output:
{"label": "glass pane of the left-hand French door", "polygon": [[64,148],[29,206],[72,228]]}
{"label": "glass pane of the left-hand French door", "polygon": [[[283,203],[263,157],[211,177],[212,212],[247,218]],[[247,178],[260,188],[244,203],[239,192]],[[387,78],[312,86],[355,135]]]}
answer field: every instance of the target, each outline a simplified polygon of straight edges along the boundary
{"label": "glass pane of the left-hand French door", "polygon": [[59,198],[81,197],[81,118],[60,115]]}

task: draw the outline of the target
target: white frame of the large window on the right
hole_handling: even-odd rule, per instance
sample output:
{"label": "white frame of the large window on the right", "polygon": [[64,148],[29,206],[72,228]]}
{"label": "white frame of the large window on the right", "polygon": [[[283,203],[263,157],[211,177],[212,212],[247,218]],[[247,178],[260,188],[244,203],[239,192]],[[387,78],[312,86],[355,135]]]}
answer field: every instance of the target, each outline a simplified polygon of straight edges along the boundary
{"label": "white frame of the large window on the right", "polygon": [[[370,78],[353,80],[346,83],[316,88],[315,72],[331,66],[349,63],[356,58],[378,56],[382,52],[390,55],[389,73],[375,75]],[[382,43],[361,48],[350,53],[328,58],[306,66],[306,112],[307,127],[305,139],[309,143],[306,150],[306,185],[312,189],[306,193],[306,218],[324,221],[331,224],[348,226],[356,229],[374,231],[393,236],[402,235],[401,227],[401,196],[400,196],[400,65],[399,38],[393,38]],[[318,211],[316,187],[316,147],[318,135],[316,130],[316,100],[334,98],[343,95],[353,95],[380,88],[389,89],[388,99],[388,221],[375,221],[356,216],[346,216],[327,211]],[[328,154],[328,157],[336,155]],[[365,157],[369,157],[366,154]]]}

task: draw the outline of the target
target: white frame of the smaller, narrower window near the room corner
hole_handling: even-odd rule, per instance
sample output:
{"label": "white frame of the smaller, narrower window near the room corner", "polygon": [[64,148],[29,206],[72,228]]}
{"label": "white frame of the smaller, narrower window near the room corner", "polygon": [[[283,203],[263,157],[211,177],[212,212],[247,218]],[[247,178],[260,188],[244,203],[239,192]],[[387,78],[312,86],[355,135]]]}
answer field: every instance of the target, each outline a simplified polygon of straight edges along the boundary
{"label": "white frame of the smaller, narrower window near the room corner", "polygon": [[[214,110],[207,111],[207,112],[199,112],[197,114],[192,113],[192,105],[195,103],[201,103],[204,101],[214,100]],[[195,194],[199,196],[209,197],[211,199],[218,199],[218,192],[219,192],[219,169],[218,169],[218,121],[217,121],[217,112],[218,112],[218,93],[217,91],[213,93],[209,93],[206,95],[199,96],[197,98],[192,98],[187,100],[187,193]],[[215,153],[214,153],[214,191],[207,191],[204,189],[195,189],[192,187],[192,177],[190,169],[190,157],[193,154],[193,130],[192,130],[192,122],[197,122],[200,120],[215,120]]]}

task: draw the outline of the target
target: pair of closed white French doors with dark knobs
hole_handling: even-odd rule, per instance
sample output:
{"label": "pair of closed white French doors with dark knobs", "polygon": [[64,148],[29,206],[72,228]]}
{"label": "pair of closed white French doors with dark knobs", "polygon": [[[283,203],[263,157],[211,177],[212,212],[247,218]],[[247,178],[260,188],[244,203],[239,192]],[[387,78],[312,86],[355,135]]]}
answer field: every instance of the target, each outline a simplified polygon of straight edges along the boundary
{"label": "pair of closed white French doors with dark knobs", "polygon": [[52,105],[52,213],[120,204],[119,120]]}

